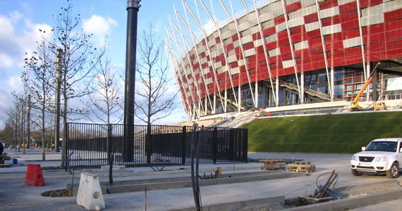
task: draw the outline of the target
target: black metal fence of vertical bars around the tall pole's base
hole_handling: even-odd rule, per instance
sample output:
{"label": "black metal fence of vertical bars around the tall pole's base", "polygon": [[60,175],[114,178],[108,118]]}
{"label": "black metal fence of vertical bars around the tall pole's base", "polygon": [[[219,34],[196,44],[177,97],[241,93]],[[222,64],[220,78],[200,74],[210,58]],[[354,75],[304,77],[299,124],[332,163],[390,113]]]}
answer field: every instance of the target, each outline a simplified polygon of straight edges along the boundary
{"label": "black metal fence of vertical bars around the tall pole's base", "polygon": [[[109,165],[157,166],[190,164],[191,143],[200,140],[202,163],[247,162],[248,130],[226,127],[133,125],[133,161],[123,160],[123,124],[68,123],[69,167]],[[195,129],[195,130],[194,130]]]}

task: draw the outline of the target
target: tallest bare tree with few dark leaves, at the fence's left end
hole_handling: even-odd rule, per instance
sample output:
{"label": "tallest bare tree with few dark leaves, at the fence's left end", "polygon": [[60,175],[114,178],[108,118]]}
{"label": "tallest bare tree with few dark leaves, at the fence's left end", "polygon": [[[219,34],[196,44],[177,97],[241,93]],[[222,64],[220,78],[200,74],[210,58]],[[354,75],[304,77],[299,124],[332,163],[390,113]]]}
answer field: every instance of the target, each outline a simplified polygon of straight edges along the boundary
{"label": "tallest bare tree with few dark leaves, at the fence's left end", "polygon": [[80,108],[70,108],[68,102],[73,98],[86,96],[93,91],[88,86],[88,80],[90,80],[90,73],[95,70],[104,52],[95,53],[97,48],[92,46],[90,42],[91,34],[85,34],[83,28],[80,27],[80,14],[73,14],[71,3],[66,8],[61,8],[56,17],[56,27],[52,31],[54,32],[53,39],[46,39],[47,46],[55,54],[57,49],[62,51],[59,63],[61,73],[59,83],[61,84],[61,116],[63,117],[61,167],[64,167],[67,118],[71,120],[73,114],[80,115],[83,113]]}

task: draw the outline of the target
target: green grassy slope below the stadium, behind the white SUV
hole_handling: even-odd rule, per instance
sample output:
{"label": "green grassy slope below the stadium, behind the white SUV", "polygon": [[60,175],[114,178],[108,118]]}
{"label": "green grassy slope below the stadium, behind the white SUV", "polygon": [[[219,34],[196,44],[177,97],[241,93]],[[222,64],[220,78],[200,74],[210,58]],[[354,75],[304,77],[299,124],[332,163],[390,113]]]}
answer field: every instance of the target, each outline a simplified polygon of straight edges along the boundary
{"label": "green grassy slope below the stadium, behind the white SUV", "polygon": [[372,139],[402,137],[402,112],[263,118],[242,128],[250,152],[355,153]]}

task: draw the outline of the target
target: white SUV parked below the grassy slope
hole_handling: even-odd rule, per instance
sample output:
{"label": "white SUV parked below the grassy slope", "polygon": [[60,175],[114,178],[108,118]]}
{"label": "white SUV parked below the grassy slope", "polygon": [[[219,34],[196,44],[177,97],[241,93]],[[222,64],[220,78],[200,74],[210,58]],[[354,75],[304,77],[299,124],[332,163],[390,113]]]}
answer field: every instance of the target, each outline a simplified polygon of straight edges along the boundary
{"label": "white SUV parked below the grassy slope", "polygon": [[386,174],[395,178],[402,167],[402,138],[375,139],[362,152],[352,156],[352,174],[360,176],[363,172]]}

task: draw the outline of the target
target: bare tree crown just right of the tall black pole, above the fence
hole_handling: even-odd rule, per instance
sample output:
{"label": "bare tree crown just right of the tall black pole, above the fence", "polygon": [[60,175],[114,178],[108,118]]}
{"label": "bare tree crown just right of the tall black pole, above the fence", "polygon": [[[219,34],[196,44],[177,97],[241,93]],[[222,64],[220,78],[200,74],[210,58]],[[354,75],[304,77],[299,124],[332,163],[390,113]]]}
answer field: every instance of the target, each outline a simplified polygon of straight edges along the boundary
{"label": "bare tree crown just right of the tall black pole, above the fence", "polygon": [[173,113],[177,106],[177,92],[169,92],[172,87],[168,77],[169,65],[163,54],[163,43],[152,24],[143,30],[140,39],[135,117],[150,126],[154,121]]}

